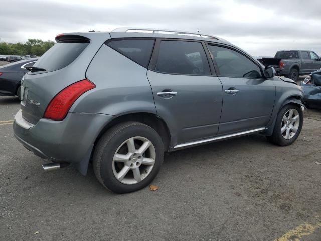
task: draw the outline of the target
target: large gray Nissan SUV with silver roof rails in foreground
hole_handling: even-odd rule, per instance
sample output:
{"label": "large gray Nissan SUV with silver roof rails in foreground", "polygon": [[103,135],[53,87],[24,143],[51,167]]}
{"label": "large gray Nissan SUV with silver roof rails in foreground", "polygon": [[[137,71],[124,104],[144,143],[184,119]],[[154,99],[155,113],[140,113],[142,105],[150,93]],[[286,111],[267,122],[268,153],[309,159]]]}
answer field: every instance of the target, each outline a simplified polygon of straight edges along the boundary
{"label": "large gray Nissan SUV with silver roof rails in foreground", "polygon": [[252,133],[286,146],[302,89],[210,35],[116,29],[67,33],[21,85],[16,138],[54,170],[70,163],[116,193],[148,185],[164,152]]}

